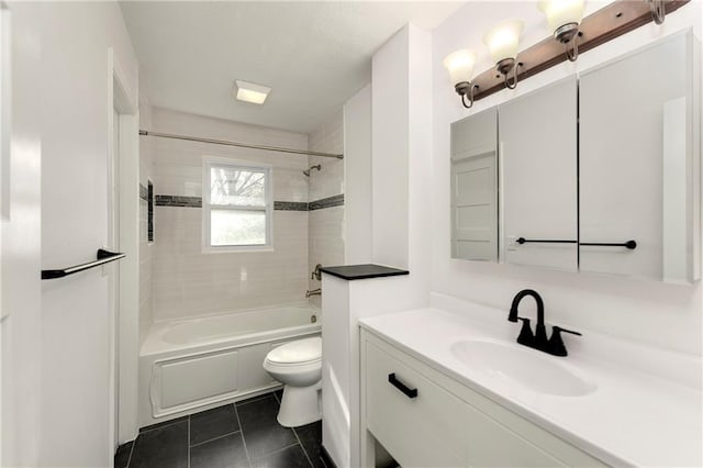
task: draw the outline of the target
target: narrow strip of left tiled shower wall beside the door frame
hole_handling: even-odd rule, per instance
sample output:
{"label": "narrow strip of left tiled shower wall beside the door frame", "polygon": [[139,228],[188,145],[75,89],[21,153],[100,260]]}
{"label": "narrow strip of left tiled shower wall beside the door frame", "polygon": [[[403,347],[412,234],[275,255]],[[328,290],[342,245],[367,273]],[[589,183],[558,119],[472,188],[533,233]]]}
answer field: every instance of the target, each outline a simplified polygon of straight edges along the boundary
{"label": "narrow strip of left tiled shower wall beside the door frame", "polygon": [[[152,127],[152,108],[140,102],[140,124]],[[140,343],[148,333],[154,320],[152,301],[152,271],[154,265],[154,245],[148,238],[148,182],[154,172],[154,141],[140,138]]]}

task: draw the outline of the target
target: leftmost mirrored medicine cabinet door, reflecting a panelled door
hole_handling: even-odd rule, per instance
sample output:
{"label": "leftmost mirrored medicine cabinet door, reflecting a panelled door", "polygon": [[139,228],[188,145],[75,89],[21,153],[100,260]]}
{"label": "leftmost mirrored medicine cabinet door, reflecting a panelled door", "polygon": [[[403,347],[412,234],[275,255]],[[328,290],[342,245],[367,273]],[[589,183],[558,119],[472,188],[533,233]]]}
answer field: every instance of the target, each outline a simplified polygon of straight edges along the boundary
{"label": "leftmost mirrored medicine cabinet door, reflecting a panelled door", "polygon": [[495,108],[451,124],[451,258],[498,261]]}

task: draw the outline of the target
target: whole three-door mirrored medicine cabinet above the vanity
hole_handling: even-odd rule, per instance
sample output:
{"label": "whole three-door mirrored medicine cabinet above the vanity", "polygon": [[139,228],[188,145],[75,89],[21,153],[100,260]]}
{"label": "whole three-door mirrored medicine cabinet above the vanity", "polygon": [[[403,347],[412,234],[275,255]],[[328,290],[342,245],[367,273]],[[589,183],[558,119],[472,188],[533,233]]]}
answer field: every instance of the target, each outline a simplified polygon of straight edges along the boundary
{"label": "whole three-door mirrored medicine cabinet above the vanity", "polygon": [[689,31],[451,124],[451,257],[700,279]]}

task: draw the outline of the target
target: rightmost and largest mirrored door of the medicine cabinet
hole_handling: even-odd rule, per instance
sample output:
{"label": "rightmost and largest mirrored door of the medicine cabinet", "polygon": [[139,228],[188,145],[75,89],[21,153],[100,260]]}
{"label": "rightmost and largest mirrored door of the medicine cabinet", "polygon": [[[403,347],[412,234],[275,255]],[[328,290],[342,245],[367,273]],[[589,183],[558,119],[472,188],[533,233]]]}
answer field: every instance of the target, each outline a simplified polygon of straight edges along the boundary
{"label": "rightmost and largest mirrored door of the medicine cabinet", "polygon": [[637,243],[581,245],[581,271],[691,271],[690,51],[690,35],[678,35],[581,77],[580,242]]}

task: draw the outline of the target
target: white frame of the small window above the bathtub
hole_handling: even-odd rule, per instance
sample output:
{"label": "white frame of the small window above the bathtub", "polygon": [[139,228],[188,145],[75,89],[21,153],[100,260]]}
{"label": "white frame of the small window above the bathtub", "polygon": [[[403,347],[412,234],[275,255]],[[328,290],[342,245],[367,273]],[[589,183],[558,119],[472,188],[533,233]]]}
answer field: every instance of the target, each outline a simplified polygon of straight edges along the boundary
{"label": "white frame of the small window above the bathtub", "polygon": [[[264,172],[265,205],[247,207],[237,204],[212,204],[211,202],[211,169],[213,167],[226,167],[236,170],[252,170]],[[202,252],[204,254],[237,253],[237,252],[272,252],[274,250],[274,175],[272,167],[268,164],[253,163],[221,157],[203,156],[202,163]],[[248,245],[212,245],[211,243],[211,213],[212,210],[255,211],[266,215],[266,243]]]}

